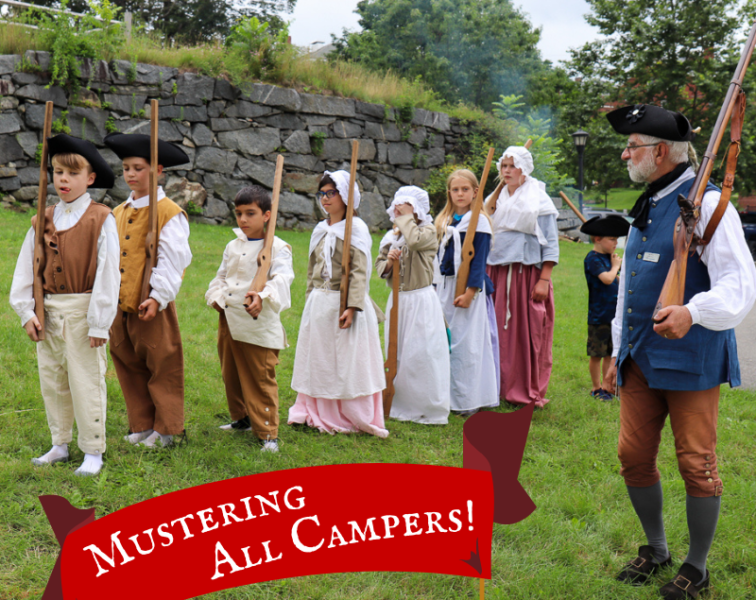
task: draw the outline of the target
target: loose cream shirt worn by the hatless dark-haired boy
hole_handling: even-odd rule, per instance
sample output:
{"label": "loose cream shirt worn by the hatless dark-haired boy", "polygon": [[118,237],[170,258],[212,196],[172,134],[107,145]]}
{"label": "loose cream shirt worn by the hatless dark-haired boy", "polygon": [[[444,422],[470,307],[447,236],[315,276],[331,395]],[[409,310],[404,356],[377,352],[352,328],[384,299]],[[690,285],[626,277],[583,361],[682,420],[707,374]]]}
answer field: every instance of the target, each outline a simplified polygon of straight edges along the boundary
{"label": "loose cream shirt worn by the hatless dark-haired boy", "polygon": [[241,229],[223,251],[223,260],[205,294],[208,306],[217,303],[226,314],[231,337],[263,348],[287,347],[280,313],[291,307],[291,282],[294,281],[291,247],[278,237],[273,239],[269,279],[260,292],[263,309],[257,320],[244,309],[244,298],[257,274],[257,256],[263,240],[248,240]]}

